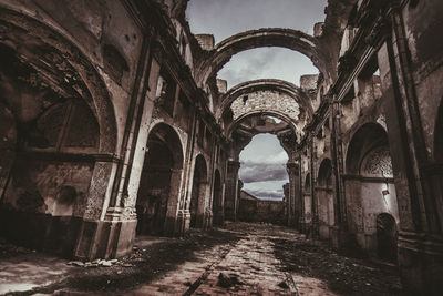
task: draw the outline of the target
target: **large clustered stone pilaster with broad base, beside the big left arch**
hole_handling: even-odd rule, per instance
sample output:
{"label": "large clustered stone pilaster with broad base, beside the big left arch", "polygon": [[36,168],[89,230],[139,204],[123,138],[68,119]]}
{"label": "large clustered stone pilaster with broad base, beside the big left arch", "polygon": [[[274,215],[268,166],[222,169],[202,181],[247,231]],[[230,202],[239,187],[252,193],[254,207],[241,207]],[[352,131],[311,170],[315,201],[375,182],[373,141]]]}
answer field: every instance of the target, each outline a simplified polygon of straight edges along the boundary
{"label": "large clustered stone pilaster with broad base, beside the big left arch", "polygon": [[[132,251],[137,224],[136,193],[159,73],[158,63],[152,59],[153,32],[146,33],[123,131],[122,155],[117,162],[95,163],[89,204],[75,247],[75,256],[80,258],[121,257]],[[106,176],[112,178],[104,184]]]}

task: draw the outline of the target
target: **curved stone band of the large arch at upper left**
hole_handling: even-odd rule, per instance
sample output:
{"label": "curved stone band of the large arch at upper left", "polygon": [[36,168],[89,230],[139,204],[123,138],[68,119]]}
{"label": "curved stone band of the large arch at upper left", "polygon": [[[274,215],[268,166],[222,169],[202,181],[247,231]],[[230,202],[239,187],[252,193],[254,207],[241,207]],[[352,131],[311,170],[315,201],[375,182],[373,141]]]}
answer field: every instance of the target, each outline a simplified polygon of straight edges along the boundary
{"label": "curved stone band of the large arch at upper left", "polygon": [[0,8],[0,28],[8,34],[8,40],[0,43],[20,57],[18,62],[25,64],[29,71],[39,73],[33,84],[40,91],[49,85],[61,96],[82,98],[100,125],[99,152],[114,153],[114,108],[105,83],[81,47],[74,44],[66,33],[32,17],[6,8]]}

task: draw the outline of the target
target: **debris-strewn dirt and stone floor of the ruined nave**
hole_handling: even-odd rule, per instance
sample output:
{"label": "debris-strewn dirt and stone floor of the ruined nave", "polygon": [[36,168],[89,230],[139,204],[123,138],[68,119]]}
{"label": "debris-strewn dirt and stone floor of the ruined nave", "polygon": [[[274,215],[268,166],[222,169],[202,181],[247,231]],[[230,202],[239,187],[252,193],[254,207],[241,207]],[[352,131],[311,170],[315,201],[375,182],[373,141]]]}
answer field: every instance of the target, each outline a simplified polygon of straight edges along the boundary
{"label": "debris-strewn dirt and stone floor of the ruined nave", "polygon": [[292,229],[229,223],[184,238],[138,237],[131,255],[111,262],[69,262],[0,241],[0,293],[400,295],[401,285],[395,267],[339,255]]}

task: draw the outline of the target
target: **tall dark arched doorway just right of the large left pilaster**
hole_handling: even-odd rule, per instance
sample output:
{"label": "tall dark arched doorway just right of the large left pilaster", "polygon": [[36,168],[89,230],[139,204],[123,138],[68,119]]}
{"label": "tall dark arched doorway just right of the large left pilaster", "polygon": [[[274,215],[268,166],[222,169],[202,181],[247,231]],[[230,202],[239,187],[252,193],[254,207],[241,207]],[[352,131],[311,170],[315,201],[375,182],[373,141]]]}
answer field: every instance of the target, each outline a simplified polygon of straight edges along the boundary
{"label": "tall dark arched doorway just right of the large left pilaster", "polygon": [[167,124],[155,125],[147,139],[137,194],[137,235],[173,231],[169,226],[173,227],[176,215],[182,169],[183,152],[177,133]]}

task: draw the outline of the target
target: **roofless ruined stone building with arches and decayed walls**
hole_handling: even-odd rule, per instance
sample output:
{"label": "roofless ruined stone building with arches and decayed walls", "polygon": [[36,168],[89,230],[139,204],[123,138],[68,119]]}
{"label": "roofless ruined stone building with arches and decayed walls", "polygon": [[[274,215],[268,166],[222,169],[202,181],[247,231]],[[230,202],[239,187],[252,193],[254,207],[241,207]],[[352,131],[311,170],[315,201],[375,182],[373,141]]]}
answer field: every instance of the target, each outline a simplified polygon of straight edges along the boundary
{"label": "roofless ruined stone building with arches and decayed walls", "polygon": [[[217,44],[190,33],[186,6],[0,1],[1,236],[93,259],[140,234],[223,225],[238,214],[239,153],[272,133],[290,227],[398,261],[410,292],[442,292],[443,1],[329,0],[313,35]],[[217,80],[260,47],[320,74]]]}

